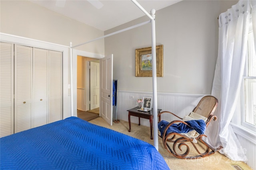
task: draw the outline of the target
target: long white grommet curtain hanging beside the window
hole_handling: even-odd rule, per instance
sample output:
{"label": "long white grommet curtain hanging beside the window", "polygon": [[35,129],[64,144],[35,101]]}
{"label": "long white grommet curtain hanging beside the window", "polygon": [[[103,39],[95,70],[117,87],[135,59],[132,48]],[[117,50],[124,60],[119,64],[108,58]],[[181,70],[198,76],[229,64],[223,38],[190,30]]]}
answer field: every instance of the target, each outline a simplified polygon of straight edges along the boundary
{"label": "long white grommet curtain hanging beside the window", "polygon": [[240,0],[219,16],[218,58],[212,86],[212,96],[219,101],[214,113],[218,119],[212,121],[206,130],[207,142],[215,148],[221,145],[223,149],[220,152],[236,161],[247,160],[230,121],[240,95],[251,11],[254,11],[252,24],[256,32],[256,6],[253,3],[255,1]]}

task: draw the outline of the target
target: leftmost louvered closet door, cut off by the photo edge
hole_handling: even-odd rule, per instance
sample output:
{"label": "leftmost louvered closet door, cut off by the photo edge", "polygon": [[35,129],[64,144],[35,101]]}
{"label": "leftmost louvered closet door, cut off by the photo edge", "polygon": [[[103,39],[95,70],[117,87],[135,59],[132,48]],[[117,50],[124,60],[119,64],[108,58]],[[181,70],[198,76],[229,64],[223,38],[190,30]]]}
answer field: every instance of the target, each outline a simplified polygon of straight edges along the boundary
{"label": "leftmost louvered closet door, cut off by the photo edge", "polygon": [[14,45],[0,43],[0,137],[14,133]]}

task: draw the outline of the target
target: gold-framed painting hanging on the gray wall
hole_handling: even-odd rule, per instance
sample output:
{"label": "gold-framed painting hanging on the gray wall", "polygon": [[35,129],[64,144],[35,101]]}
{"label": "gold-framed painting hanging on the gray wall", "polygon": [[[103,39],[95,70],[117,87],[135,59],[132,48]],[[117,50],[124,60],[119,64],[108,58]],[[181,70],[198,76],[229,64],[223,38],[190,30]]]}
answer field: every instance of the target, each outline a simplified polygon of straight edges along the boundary
{"label": "gold-framed painting hanging on the gray wall", "polygon": [[[152,48],[135,50],[136,77],[152,77]],[[163,45],[156,46],[156,76],[163,77]]]}

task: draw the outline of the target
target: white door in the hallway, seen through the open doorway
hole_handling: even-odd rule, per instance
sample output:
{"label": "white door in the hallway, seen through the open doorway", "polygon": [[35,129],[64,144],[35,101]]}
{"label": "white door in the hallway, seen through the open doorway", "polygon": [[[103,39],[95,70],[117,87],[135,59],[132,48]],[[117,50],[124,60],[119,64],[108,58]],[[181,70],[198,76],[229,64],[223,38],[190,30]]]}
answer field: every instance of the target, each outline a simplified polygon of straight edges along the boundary
{"label": "white door in the hallway, seen through the open doorway", "polygon": [[100,107],[100,63],[90,62],[90,110]]}

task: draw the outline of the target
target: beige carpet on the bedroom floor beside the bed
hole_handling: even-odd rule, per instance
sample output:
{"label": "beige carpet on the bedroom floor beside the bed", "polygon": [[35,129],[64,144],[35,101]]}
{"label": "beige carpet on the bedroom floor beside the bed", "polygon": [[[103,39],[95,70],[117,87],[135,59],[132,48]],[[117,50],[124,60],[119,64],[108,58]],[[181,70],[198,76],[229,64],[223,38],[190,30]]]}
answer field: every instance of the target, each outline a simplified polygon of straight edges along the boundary
{"label": "beige carpet on the bedroom floor beside the bed", "polygon": [[[154,140],[150,139],[150,127],[142,125],[138,126],[137,124],[131,123],[131,132],[128,132],[128,122],[121,120],[120,123],[113,123],[113,125],[110,126],[106,121],[104,121],[104,119],[102,119],[102,117],[98,117],[90,121],[90,123],[124,133],[154,145]],[[238,165],[243,170],[252,170],[252,168],[244,162],[232,161],[219,152],[211,156],[195,160],[176,158],[164,149],[161,138],[158,138],[158,150],[171,170],[236,170],[232,165]]]}

